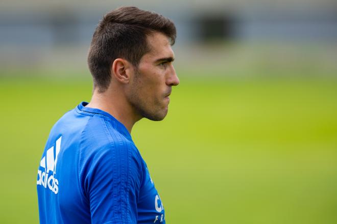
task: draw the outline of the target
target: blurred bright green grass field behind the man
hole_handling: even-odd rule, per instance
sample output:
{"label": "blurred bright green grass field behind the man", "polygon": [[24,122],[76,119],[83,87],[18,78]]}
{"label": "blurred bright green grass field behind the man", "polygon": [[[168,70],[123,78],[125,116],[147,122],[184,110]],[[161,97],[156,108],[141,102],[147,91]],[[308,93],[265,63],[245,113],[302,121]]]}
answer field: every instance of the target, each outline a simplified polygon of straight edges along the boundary
{"label": "blurred bright green grass field behind the man", "polygon": [[[89,78],[0,78],[0,223],[37,223],[52,125]],[[132,133],[167,223],[337,223],[337,79],[181,76],[162,122]]]}

